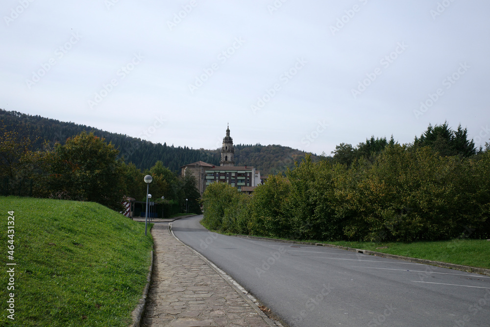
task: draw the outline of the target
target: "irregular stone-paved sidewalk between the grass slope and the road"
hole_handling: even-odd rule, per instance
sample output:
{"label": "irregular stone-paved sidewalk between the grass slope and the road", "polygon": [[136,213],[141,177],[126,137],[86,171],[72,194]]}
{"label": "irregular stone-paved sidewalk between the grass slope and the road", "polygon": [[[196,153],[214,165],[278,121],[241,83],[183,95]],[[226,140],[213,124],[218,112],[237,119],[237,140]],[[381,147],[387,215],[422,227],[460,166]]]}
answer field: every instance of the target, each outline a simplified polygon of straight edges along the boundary
{"label": "irregular stone-paved sidewalk between the grass slope and the road", "polygon": [[155,258],[142,326],[280,326],[176,240],[166,224],[155,224],[151,234]]}

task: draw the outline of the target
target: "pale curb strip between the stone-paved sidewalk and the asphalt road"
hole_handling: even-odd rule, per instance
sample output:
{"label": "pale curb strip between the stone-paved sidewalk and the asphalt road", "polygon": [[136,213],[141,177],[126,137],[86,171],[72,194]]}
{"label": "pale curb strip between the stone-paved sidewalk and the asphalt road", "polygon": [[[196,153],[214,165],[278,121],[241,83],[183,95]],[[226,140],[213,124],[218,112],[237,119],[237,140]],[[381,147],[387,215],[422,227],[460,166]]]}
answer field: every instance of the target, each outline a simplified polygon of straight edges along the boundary
{"label": "pale curb strip between the stone-paved sidewalk and the asphalt road", "polygon": [[209,261],[208,258],[206,258],[204,255],[202,255],[201,253],[197,252],[196,250],[194,250],[193,248],[191,248],[190,246],[188,246],[187,244],[185,244],[184,242],[182,242],[181,240],[179,240],[177,238],[177,236],[175,236],[175,234],[173,233],[172,224],[169,224],[169,232],[172,234],[173,237],[175,237],[175,239],[177,241],[179,241],[180,243],[182,243],[185,247],[191,249],[194,253],[196,253],[196,255],[199,258],[201,258],[211,268],[213,268],[213,270],[216,271],[221,276],[221,278],[223,278],[224,280],[226,280],[226,282],[228,282],[228,284],[230,284],[230,286],[233,287],[235,289],[235,291],[237,291],[238,294],[240,294],[240,296],[257,312],[257,314],[260,317],[262,317],[265,320],[265,322],[270,327],[282,327],[283,326],[280,322],[270,319],[259,308],[259,305],[260,305],[259,301],[253,295],[251,295],[250,293],[248,293],[245,290],[245,288],[242,285],[240,285],[235,279],[233,279],[231,276],[229,276],[224,271],[222,271],[220,268],[218,268],[214,263],[212,263],[211,261]]}

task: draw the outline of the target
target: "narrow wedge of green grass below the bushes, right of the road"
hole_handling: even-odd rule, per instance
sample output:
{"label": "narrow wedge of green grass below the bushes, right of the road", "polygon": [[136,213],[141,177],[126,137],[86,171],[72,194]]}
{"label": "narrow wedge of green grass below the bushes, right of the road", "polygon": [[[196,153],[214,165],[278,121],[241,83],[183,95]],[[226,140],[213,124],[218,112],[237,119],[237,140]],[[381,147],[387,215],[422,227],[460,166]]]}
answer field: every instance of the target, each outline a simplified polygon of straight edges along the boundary
{"label": "narrow wedge of green grass below the bushes, right of the road", "polygon": [[[490,241],[455,239],[434,242],[325,242],[343,247],[371,250],[412,258],[428,259],[490,269]],[[387,247],[386,249],[377,249]]]}

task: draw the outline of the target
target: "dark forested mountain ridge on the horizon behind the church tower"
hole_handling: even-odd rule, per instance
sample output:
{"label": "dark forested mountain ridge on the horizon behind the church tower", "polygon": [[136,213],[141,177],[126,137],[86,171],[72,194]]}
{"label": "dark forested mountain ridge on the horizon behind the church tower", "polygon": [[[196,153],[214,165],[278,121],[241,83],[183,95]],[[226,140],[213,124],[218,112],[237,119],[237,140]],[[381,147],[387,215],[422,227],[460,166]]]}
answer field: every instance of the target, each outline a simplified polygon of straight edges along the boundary
{"label": "dark forested mountain ridge on the horizon behind the church tower", "polygon": [[[0,124],[7,130],[15,130],[31,139],[39,137],[35,148],[41,149],[44,141],[64,144],[66,139],[87,131],[111,142],[120,151],[120,157],[125,162],[132,162],[141,170],[149,169],[158,160],[170,170],[180,173],[180,167],[196,161],[204,161],[212,165],[220,164],[220,149],[192,149],[187,146],[174,147],[167,143],[152,143],[125,134],[112,133],[86,125],[72,122],[60,122],[41,116],[32,116],[17,111],[0,109]],[[238,144],[235,148],[235,163],[237,166],[254,166],[262,175],[278,174],[294,167],[294,161],[301,161],[306,152],[283,147],[280,145],[263,146]]]}

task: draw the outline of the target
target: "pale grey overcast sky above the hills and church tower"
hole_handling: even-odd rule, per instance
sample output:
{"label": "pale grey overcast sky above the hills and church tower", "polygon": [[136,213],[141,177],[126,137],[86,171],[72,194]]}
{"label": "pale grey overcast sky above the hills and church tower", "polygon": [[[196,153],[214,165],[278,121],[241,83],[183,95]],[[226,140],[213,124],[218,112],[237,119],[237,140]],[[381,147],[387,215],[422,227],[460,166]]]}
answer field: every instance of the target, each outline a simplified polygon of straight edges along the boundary
{"label": "pale grey overcast sky above the hills and church tower", "polygon": [[194,149],[489,141],[488,0],[0,4],[0,108]]}

